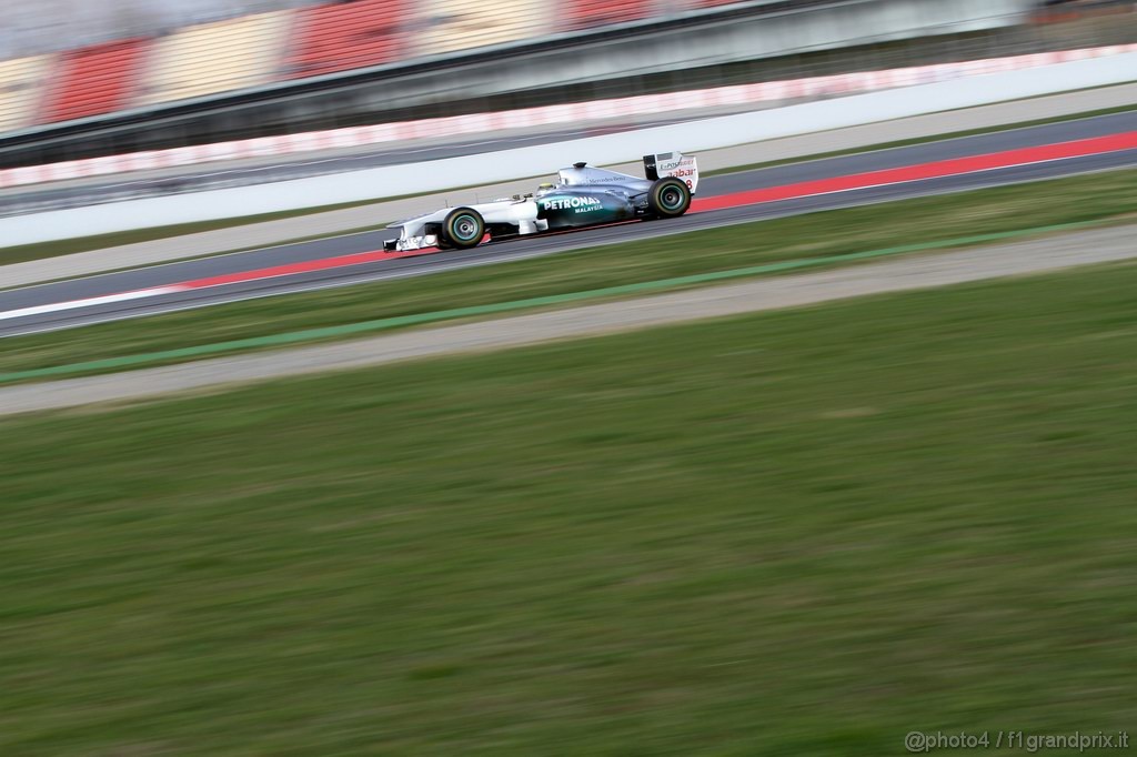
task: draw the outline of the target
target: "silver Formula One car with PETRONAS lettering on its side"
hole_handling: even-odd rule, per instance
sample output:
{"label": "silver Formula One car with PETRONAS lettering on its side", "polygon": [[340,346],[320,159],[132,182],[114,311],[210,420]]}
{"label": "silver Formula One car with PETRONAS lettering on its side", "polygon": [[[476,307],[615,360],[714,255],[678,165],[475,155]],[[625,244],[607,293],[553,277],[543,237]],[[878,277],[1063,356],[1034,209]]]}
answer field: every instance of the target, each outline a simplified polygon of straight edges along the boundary
{"label": "silver Formula One car with PETRONAS lettering on its side", "polygon": [[493,202],[443,208],[391,224],[401,228],[388,250],[470,249],[487,239],[540,234],[620,221],[675,218],[691,207],[699,185],[694,156],[662,152],[644,158],[644,174],[594,168],[584,163],[562,168],[555,184],[541,184],[532,194]]}

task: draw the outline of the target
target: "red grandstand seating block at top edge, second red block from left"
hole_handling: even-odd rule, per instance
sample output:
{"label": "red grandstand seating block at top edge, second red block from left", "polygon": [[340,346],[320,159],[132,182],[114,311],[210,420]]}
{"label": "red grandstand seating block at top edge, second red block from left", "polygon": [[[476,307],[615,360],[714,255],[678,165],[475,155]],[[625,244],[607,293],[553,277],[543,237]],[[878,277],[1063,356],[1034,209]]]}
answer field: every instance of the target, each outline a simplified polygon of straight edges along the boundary
{"label": "red grandstand seating block at top edge, second red block from left", "polygon": [[355,0],[298,11],[293,50],[285,56],[285,78],[377,66],[402,53],[400,27],[412,14],[409,0]]}

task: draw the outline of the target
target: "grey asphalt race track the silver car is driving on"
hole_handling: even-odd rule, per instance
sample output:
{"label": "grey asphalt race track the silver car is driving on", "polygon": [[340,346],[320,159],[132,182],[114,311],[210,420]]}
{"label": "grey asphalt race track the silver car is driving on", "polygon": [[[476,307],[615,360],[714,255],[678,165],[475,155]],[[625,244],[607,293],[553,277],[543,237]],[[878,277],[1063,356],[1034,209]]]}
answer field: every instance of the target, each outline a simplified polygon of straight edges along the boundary
{"label": "grey asphalt race track the silver car is driving on", "polygon": [[[791,164],[761,170],[705,177],[699,198],[731,194],[786,184],[796,184],[850,174],[885,170],[920,164],[965,158],[1021,148],[1036,148],[1074,140],[1137,131],[1137,111],[1063,122],[1030,128],[947,140],[908,148],[897,148],[840,158]],[[586,157],[586,156],[582,156]],[[358,265],[318,267],[321,260],[382,249],[384,239],[395,232],[371,232],[322,239],[263,250],[184,260],[161,266],[70,280],[0,292],[0,336],[51,331],[119,318],[153,315],[192,307],[205,307],[251,299],[340,286],[367,281],[439,273],[472,265],[484,265],[548,256],[568,250],[649,239],[702,228],[885,202],[911,197],[956,192],[1052,178],[1079,173],[1137,166],[1137,149],[1031,163],[993,170],[944,176],[850,191],[816,194],[762,205],[691,213],[682,218],[630,223],[568,234],[520,239],[487,244],[466,252],[445,252],[384,259]],[[1024,224],[1029,224],[1027,221]],[[1045,218],[1035,224],[1045,224]],[[965,233],[965,232],[964,232]],[[163,288],[180,282],[216,280],[265,268],[296,265],[294,273],[255,277],[233,283],[216,283],[192,291],[150,294],[141,299],[124,292]],[[107,298],[99,301],[98,298]],[[75,305],[77,300],[94,302]],[[59,309],[59,303],[72,303]],[[31,310],[24,313],[25,310]],[[43,311],[38,311],[43,309]],[[20,311],[15,315],[14,311]]]}

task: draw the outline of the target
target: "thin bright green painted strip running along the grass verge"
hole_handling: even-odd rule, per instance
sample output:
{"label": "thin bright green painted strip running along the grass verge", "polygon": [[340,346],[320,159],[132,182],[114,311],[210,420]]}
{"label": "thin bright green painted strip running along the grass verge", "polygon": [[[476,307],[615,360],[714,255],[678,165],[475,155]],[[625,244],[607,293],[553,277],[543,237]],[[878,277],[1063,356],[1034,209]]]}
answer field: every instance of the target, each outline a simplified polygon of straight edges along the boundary
{"label": "thin bright green painted strip running along the grass verge", "polygon": [[747,268],[732,268],[730,271],[717,271],[714,273],[694,274],[690,276],[678,276],[674,278],[661,278],[657,281],[646,281],[637,284],[624,284],[621,286],[606,286],[604,289],[592,289],[583,292],[567,292],[565,294],[550,294],[548,297],[532,297],[524,300],[512,300],[509,302],[496,302],[493,305],[478,305],[465,308],[453,308],[449,310],[435,310],[432,313],[420,313],[416,315],[397,316],[393,318],[380,318],[377,321],[364,321],[360,323],[345,324],[342,326],[329,326],[325,328],[307,328],[305,331],[293,331],[284,334],[273,334],[271,336],[255,336],[250,339],[238,339],[214,344],[200,344],[198,347],[185,347],[175,350],[161,350],[158,352],[144,352],[141,355],[127,355],[125,357],[106,358],[102,360],[88,360],[85,363],[72,363],[68,365],[57,365],[47,368],[34,368],[31,371],[17,371],[15,373],[0,374],[0,383],[11,383],[14,381],[26,381],[28,378],[44,378],[49,376],[65,376],[76,373],[89,373],[94,371],[107,371],[111,368],[127,368],[149,363],[165,363],[190,357],[204,357],[218,352],[232,352],[239,350],[255,349],[260,347],[276,347],[281,344],[297,344],[313,342],[332,336],[345,336],[373,331],[384,331],[398,328],[400,326],[414,326],[424,323],[437,323],[439,321],[453,321],[455,318],[468,318],[472,316],[492,315],[496,313],[509,313],[513,310],[525,310],[539,308],[548,305],[563,305],[565,302],[576,302],[580,300],[591,300],[604,297],[615,297],[621,294],[637,294],[663,289],[674,289],[688,286],[690,284],[705,284],[707,282],[723,281],[728,278],[746,278],[763,274],[781,273],[785,271],[796,271],[799,268],[812,268],[816,266],[832,265],[837,263],[850,263],[854,260],[868,260],[891,255],[903,255],[905,252],[920,252],[923,250],[936,250],[949,247],[965,247],[982,242],[997,242],[1001,240],[1014,239],[1018,236],[1029,236],[1034,234],[1047,234],[1061,231],[1072,231],[1085,228],[1086,226],[1099,225],[1101,221],[1082,221],[1070,224],[1057,224],[1053,226],[1037,226],[1034,228],[1022,228],[1018,231],[996,232],[990,234],[977,234],[974,236],[960,236],[939,242],[920,242],[918,244],[902,244],[889,247],[882,250],[869,250],[866,252],[850,252],[848,255],[831,255],[821,258],[802,258],[798,260],[786,260],[783,263],[770,263],[761,266]]}

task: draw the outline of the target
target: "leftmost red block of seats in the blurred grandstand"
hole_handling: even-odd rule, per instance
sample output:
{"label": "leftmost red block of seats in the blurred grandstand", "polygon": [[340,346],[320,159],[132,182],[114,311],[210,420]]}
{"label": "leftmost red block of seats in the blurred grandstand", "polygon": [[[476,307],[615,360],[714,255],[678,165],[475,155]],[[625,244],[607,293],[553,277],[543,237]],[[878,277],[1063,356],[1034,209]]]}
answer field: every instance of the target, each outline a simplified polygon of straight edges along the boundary
{"label": "leftmost red block of seats in the blurred grandstand", "polygon": [[148,49],[149,40],[118,40],[64,53],[43,120],[70,120],[127,107]]}

